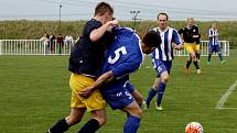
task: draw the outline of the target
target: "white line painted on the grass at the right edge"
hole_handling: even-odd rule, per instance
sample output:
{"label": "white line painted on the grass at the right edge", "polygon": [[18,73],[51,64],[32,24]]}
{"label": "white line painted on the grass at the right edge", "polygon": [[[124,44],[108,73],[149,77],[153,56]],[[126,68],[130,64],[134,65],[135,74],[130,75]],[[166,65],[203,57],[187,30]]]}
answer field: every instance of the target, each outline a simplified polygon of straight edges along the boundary
{"label": "white line painted on the grass at the right edge", "polygon": [[237,108],[223,108],[225,102],[227,101],[228,97],[233,93],[235,88],[237,87],[237,79],[236,81],[229,87],[229,89],[223,95],[219,101],[216,104],[216,109],[237,109]]}

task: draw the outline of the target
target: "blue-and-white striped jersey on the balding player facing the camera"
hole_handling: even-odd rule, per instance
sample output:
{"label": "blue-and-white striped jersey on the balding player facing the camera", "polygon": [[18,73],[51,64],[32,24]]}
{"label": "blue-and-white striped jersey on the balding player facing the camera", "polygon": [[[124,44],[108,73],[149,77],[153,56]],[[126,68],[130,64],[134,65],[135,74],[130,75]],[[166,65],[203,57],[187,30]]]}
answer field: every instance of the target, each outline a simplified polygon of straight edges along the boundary
{"label": "blue-and-white striped jersey on the balding player facing the camera", "polygon": [[159,27],[152,29],[160,34],[162,43],[161,45],[151,53],[151,58],[161,60],[172,60],[173,59],[173,47],[172,43],[181,45],[181,37],[175,29],[168,27],[165,31],[161,31]]}

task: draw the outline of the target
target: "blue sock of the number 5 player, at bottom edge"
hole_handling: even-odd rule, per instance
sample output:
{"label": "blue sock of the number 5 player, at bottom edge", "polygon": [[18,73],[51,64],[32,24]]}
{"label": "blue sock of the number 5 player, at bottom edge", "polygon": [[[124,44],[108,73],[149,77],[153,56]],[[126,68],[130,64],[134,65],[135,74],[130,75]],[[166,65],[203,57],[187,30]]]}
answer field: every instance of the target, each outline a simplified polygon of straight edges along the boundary
{"label": "blue sock of the number 5 player, at bottom edge", "polygon": [[140,121],[141,120],[139,118],[129,115],[123,125],[123,133],[137,133]]}

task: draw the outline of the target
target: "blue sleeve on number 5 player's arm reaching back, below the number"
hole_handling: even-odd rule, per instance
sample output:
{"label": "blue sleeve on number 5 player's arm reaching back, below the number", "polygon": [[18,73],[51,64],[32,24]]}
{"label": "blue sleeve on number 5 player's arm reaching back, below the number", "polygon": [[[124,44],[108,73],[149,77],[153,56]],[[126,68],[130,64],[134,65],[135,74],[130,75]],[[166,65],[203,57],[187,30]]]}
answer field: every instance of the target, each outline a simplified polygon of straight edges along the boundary
{"label": "blue sleeve on number 5 player's arm reaching back, below the number", "polygon": [[130,73],[133,73],[137,70],[141,65],[142,58],[139,56],[131,57],[129,56],[126,60],[114,67],[112,74],[115,78],[120,78],[125,75],[129,75]]}

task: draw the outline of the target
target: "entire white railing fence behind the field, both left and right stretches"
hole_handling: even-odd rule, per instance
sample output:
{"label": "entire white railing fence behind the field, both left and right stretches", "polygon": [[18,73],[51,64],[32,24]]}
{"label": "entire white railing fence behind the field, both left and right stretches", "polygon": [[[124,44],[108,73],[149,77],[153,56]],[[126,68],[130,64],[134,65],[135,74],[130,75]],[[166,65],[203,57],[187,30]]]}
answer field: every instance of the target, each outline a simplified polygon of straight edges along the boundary
{"label": "entire white railing fence behind the field, both left and right stretches", "polygon": [[[223,56],[229,56],[229,41],[219,41]],[[0,55],[69,55],[74,42],[60,45],[56,41],[0,40]],[[175,56],[187,56],[185,49],[174,51]],[[208,55],[208,41],[201,42],[201,55]],[[216,56],[216,54],[214,54]]]}

